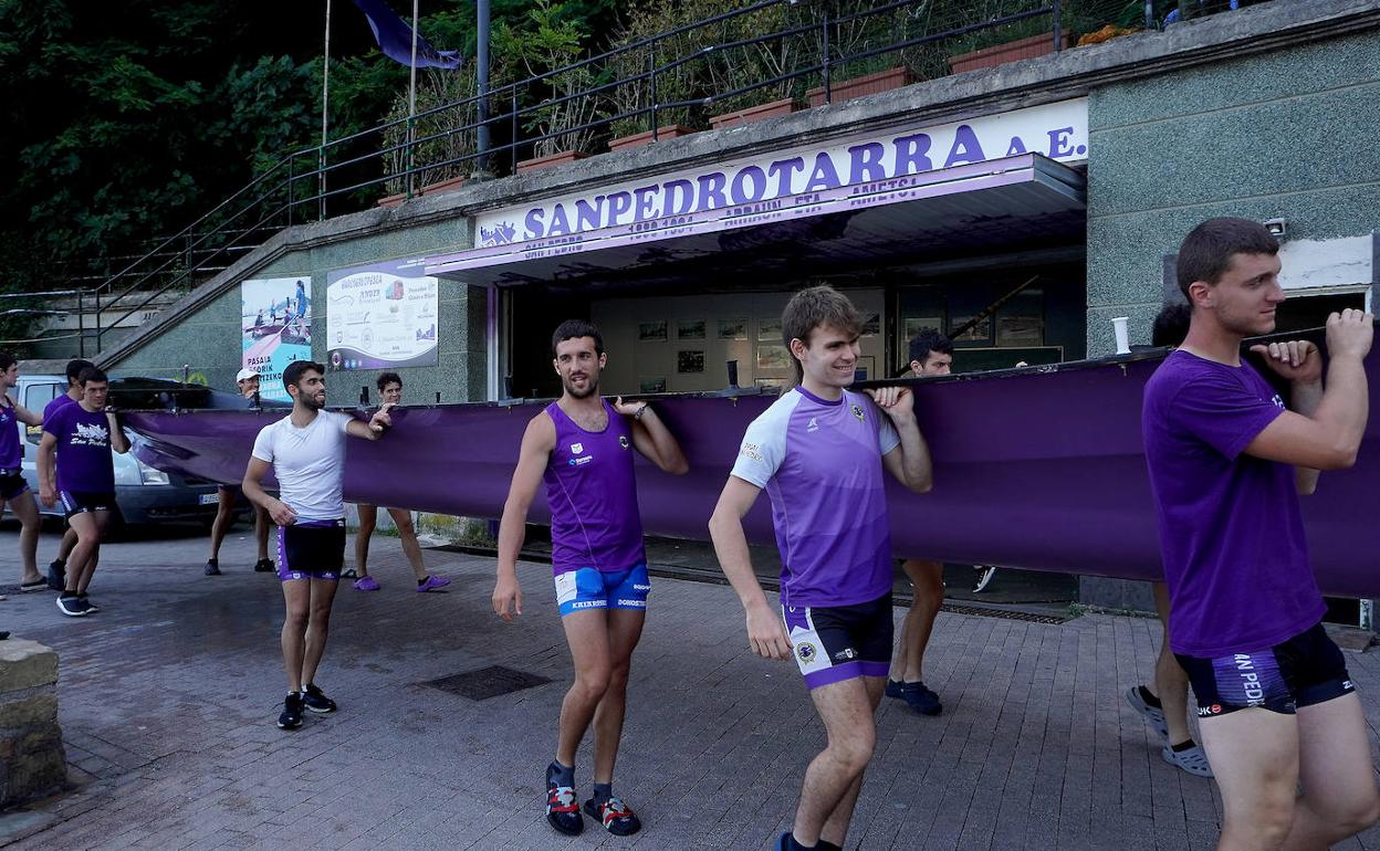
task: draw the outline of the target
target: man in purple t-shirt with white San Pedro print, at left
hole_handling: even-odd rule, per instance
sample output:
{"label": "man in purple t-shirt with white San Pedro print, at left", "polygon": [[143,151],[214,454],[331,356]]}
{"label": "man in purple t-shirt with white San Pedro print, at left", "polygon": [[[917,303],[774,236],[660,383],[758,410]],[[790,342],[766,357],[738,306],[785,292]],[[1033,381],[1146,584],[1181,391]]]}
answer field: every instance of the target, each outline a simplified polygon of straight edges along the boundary
{"label": "man in purple t-shirt with white San Pedro print, at left", "polygon": [[130,440],[119,421],[105,410],[109,390],[105,372],[87,367],[77,381],[81,385],[81,400],[62,406],[51,417],[46,417],[43,440],[39,443],[39,499],[50,508],[61,499],[62,510],[77,537],[65,588],[58,597],[58,610],[69,618],[99,611],[87,599],[87,588],[95,574],[110,512],[115,510],[115,462],[110,459],[110,450],[121,454],[130,451]]}

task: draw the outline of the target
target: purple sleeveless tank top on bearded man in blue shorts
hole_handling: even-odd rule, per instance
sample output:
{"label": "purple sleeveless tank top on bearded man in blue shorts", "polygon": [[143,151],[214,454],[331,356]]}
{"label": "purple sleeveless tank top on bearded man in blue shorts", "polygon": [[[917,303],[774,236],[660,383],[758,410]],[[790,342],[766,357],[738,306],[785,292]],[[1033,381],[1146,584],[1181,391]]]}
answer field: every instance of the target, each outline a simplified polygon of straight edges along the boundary
{"label": "purple sleeveless tank top on bearded man in blue shorts", "polygon": [[546,406],[556,423],[556,448],[546,462],[551,508],[551,567],[559,575],[584,567],[600,571],[644,564],[638,483],[632,474],[632,425],[603,403],[609,425],[586,432],[560,406]]}

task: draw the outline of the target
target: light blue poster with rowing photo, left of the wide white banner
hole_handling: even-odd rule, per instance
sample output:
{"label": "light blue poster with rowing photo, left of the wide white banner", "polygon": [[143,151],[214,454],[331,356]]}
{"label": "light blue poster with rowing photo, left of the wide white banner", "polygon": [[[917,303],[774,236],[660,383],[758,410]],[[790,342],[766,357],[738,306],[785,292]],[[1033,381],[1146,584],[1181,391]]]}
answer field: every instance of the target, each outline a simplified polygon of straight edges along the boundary
{"label": "light blue poster with rowing photo, left of the wide white banner", "polygon": [[312,359],[312,279],[269,277],[240,284],[240,364],[258,370],[259,397],[287,400],[283,370]]}

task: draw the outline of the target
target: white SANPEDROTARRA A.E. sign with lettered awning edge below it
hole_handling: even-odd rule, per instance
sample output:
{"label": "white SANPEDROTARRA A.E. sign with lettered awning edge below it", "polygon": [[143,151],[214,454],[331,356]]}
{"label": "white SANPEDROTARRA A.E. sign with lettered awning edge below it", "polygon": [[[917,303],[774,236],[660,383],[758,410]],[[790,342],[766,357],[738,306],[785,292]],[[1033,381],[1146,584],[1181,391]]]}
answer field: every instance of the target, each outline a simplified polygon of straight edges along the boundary
{"label": "white SANPEDROTARRA A.E. sign with lettered awning edge below it", "polygon": [[872,132],[494,210],[476,217],[476,248],[432,258],[428,272],[914,200],[981,163],[1031,153],[1086,160],[1087,99]]}

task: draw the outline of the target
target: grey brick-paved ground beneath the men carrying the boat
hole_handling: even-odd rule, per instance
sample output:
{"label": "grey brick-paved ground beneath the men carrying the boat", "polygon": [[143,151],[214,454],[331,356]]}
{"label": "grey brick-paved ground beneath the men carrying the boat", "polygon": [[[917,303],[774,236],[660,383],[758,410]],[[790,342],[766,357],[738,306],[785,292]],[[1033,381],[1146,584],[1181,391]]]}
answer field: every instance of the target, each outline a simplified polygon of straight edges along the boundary
{"label": "grey brick-paved ground beneath the men carrying the boat", "polygon": [[[40,554],[54,546],[46,535]],[[0,845],[766,848],[788,823],[822,731],[793,666],[747,652],[730,589],[654,581],[617,779],[646,829],[563,840],[541,811],[567,670],[549,568],[523,568],[527,614],[508,626],[489,611],[491,560],[429,552],[455,583],[415,594],[397,542],[374,548],[384,590],[342,588],[319,676],[342,710],[297,732],[273,725],[282,597],[248,571],[243,537],[218,578],[201,577],[200,538],[108,546],[92,589],[103,611],[86,619],[61,618],[48,593],[0,601],[0,629],[61,654],[79,781],[0,817]],[[1212,783],[1163,764],[1121,697],[1150,669],[1155,633],[1105,615],[941,615],[926,679],[945,713],[886,701],[849,847],[1212,847]],[[1374,725],[1380,654],[1348,661]],[[553,681],[477,702],[422,684],[487,665]],[[577,770],[588,790],[588,748]],[[1380,848],[1380,832],[1344,847]]]}

